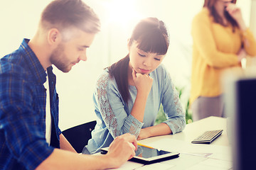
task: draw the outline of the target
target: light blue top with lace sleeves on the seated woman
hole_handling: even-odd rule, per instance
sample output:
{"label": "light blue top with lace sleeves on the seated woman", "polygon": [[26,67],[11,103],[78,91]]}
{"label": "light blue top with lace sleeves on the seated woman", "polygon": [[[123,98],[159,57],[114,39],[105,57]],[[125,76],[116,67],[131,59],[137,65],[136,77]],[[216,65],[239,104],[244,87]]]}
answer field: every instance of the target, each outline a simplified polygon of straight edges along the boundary
{"label": "light blue top with lace sleeves on the seated woman", "polygon": [[186,126],[185,113],[181,106],[169,72],[164,65],[160,64],[150,77],[154,79],[151,91],[146,100],[144,111],[144,122],[140,122],[130,113],[137,96],[135,86],[129,86],[131,101],[124,103],[119,93],[117,83],[110,78],[107,69],[97,80],[93,100],[95,103],[95,113],[97,115],[97,125],[92,131],[92,139],[88,141],[83,153],[93,154],[102,147],[108,147],[115,137],[124,133],[131,133],[138,137],[142,128],[153,126],[159,107],[163,106],[167,120],[164,121],[172,131],[172,134],[181,132]]}

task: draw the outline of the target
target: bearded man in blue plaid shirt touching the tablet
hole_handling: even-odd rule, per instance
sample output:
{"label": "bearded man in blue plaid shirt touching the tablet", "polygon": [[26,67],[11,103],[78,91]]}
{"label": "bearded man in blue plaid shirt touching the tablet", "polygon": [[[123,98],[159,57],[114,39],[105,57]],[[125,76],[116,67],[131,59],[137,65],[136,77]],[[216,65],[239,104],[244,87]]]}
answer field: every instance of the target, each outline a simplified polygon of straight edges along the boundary
{"label": "bearded man in blue plaid shirt touching the tablet", "polygon": [[69,72],[86,61],[99,30],[99,19],[81,0],[55,0],[44,9],[36,35],[1,58],[0,169],[110,169],[134,156],[133,135],[117,137],[106,155],[85,155],[74,153],[58,128],[51,65]]}

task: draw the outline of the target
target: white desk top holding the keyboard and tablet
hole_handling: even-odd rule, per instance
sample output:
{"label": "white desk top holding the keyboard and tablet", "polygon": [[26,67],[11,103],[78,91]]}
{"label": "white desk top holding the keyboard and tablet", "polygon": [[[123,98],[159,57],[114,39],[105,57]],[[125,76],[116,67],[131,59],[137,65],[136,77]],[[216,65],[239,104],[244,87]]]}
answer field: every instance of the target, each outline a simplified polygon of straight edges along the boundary
{"label": "white desk top holding the keyboard and tablet", "polygon": [[[210,145],[191,144],[191,141],[206,130],[223,129],[223,134]],[[127,162],[119,169],[230,169],[232,168],[230,144],[227,136],[227,119],[209,117],[186,125],[183,132],[140,140],[151,147],[180,152],[180,157],[151,165]]]}

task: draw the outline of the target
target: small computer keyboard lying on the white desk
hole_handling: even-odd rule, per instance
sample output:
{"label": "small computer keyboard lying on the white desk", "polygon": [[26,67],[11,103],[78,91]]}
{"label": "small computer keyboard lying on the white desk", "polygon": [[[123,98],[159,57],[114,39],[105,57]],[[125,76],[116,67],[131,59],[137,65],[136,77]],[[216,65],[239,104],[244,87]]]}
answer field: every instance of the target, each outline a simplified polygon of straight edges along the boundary
{"label": "small computer keyboard lying on the white desk", "polygon": [[203,132],[202,135],[196,137],[191,143],[203,143],[203,144],[210,144],[222,134],[223,130],[210,130]]}

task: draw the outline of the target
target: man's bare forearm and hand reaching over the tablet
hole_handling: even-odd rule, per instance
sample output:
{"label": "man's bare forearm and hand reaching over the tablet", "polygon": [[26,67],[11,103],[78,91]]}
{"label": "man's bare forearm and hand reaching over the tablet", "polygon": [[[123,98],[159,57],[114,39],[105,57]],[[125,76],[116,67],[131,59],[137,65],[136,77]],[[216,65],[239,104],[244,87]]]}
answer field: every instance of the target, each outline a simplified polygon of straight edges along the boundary
{"label": "man's bare forearm and hand reaching over the tablet", "polygon": [[134,135],[116,137],[105,155],[75,154],[62,149],[53,153],[36,169],[110,169],[117,168],[134,157],[137,140]]}

